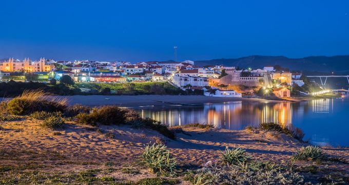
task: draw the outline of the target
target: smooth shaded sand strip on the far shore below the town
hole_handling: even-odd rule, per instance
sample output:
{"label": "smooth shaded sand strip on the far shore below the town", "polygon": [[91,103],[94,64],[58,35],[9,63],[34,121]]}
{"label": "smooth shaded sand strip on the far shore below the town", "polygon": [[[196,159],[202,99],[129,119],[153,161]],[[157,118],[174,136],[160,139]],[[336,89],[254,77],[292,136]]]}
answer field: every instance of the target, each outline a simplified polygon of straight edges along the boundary
{"label": "smooth shaded sand strip on the far shore below the town", "polygon": [[232,101],[263,101],[263,102],[280,102],[274,100],[263,100],[255,98],[222,98],[222,97],[206,97],[206,96],[172,96],[172,95],[138,95],[138,96],[64,96],[68,103],[83,104],[87,106],[99,105],[117,105],[122,107],[134,106],[159,106],[171,104],[185,104],[185,105],[201,105],[203,103],[224,103]]}

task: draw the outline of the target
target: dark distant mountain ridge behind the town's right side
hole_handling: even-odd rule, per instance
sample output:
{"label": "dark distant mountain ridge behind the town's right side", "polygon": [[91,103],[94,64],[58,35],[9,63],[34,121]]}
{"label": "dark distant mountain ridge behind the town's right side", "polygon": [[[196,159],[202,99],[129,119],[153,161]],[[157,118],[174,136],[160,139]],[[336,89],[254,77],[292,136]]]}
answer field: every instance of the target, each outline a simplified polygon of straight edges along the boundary
{"label": "dark distant mountain ridge behind the town's right side", "polygon": [[349,72],[349,55],[312,56],[300,59],[291,59],[284,56],[251,55],[238,59],[201,60],[195,61],[195,64],[198,66],[239,66],[240,68],[263,68],[264,66],[280,65],[290,70]]}

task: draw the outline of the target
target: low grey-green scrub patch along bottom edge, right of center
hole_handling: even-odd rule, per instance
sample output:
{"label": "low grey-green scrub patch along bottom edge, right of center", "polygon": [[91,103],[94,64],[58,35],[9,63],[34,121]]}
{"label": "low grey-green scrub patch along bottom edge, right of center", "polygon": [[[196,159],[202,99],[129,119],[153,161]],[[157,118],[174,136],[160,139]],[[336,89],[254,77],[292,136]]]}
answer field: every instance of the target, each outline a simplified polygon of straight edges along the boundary
{"label": "low grey-green scrub patch along bottom edge, right of center", "polygon": [[304,184],[304,177],[285,165],[247,161],[238,165],[220,165],[209,161],[186,176],[192,184]]}

